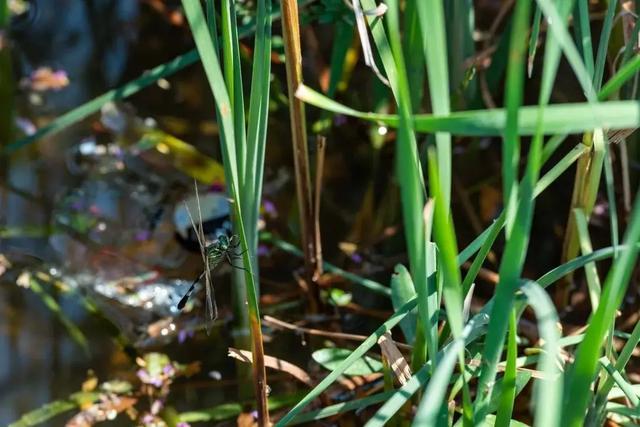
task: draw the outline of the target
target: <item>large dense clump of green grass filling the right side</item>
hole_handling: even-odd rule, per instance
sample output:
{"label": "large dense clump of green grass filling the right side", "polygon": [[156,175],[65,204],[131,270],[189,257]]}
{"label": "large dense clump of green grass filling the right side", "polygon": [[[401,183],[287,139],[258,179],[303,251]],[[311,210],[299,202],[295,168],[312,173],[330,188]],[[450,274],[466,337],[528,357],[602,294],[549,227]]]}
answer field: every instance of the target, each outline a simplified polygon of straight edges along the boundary
{"label": "large dense clump of green grass filling the right side", "polygon": [[[615,95],[624,82],[636,75],[638,69],[635,61],[637,57],[628,57],[617,74],[614,74],[608,82],[602,85],[604,66],[607,59],[607,45],[609,34],[612,31],[613,16],[616,12],[616,2],[609,2],[604,20],[603,32],[594,60],[591,33],[589,29],[589,9],[587,1],[578,1],[574,15],[577,24],[574,31],[580,37],[581,45],[578,49],[572,41],[567,22],[572,12],[573,2],[551,2],[539,0],[533,24],[531,23],[531,2],[516,1],[512,13],[511,22],[511,47],[509,60],[507,61],[507,80],[505,85],[505,108],[493,110],[460,111],[450,113],[449,97],[452,93],[450,80],[459,81],[460,64],[456,63],[456,55],[447,54],[447,42],[443,34],[444,28],[449,32],[450,48],[462,50],[464,43],[460,40],[466,34],[466,25],[471,14],[470,9],[464,9],[464,2],[447,2],[446,14],[442,13],[442,3],[439,1],[409,2],[407,10],[415,7],[419,13],[421,37],[424,45],[422,53],[423,63],[429,80],[429,94],[433,114],[414,114],[412,109],[423,105],[422,100],[415,99],[415,93],[408,90],[407,72],[405,70],[404,54],[406,46],[416,46],[416,39],[420,39],[409,24],[405,28],[404,38],[401,36],[400,8],[396,1],[388,2],[389,11],[383,19],[369,19],[369,25],[377,52],[383,65],[383,71],[390,83],[391,92],[397,104],[397,115],[384,115],[377,113],[365,113],[356,111],[324,97],[307,86],[298,88],[298,97],[311,105],[315,105],[334,113],[351,115],[372,122],[382,122],[397,128],[396,156],[398,159],[399,184],[402,193],[403,222],[407,241],[407,252],[411,276],[416,287],[416,297],[410,299],[407,304],[416,304],[418,307],[417,334],[414,341],[414,352],[419,355],[414,362],[422,361],[416,367],[414,376],[397,389],[386,403],[369,420],[367,425],[382,425],[408,401],[411,395],[424,390],[424,399],[418,406],[414,424],[416,425],[448,425],[454,419],[451,408],[461,414],[465,425],[477,425],[484,422],[487,417],[492,417],[497,425],[509,425],[513,422],[513,407],[517,397],[516,378],[518,365],[518,347],[516,340],[516,325],[522,315],[524,307],[529,304],[533,308],[538,319],[538,328],[544,344],[541,346],[541,356],[535,359],[539,361],[539,370],[544,373],[541,379],[533,380],[536,384],[533,396],[535,409],[534,420],[536,425],[582,425],[587,410],[590,419],[602,422],[606,416],[607,406],[605,397],[611,390],[614,381],[621,381],[623,367],[628,361],[625,358],[615,364],[615,355],[611,351],[602,354],[603,345],[614,333],[613,325],[615,310],[620,307],[622,297],[625,294],[629,277],[634,269],[634,263],[638,254],[638,228],[640,227],[640,197],[636,198],[636,206],[627,227],[627,234],[622,246],[618,244],[617,222],[612,219],[611,240],[613,246],[596,249],[591,247],[590,239],[586,232],[586,220],[584,211],[576,211],[579,222],[579,233],[572,235],[570,240],[576,239],[578,247],[582,247],[582,256],[577,256],[573,250],[565,260],[565,264],[543,275],[537,281],[523,278],[522,272],[529,247],[529,241],[534,238],[531,235],[531,223],[534,215],[535,198],[544,196],[544,190],[549,184],[565,172],[579,158],[590,159],[588,173],[591,178],[583,178],[576,182],[588,183],[588,186],[580,188],[581,200],[590,201],[585,207],[593,208],[593,200],[600,189],[600,174],[603,169],[606,175],[606,190],[609,204],[615,207],[613,197],[613,183],[611,164],[604,163],[605,155],[608,156],[606,143],[606,131],[622,127],[635,128],[640,123],[635,101],[606,101]],[[363,7],[375,6],[372,1],[363,0]],[[465,15],[466,13],[466,15]],[[445,20],[445,16],[447,19]],[[547,32],[542,69],[542,86],[539,92],[538,105],[523,107],[523,89],[525,85],[525,58],[529,55],[529,73],[536,53],[537,38],[540,31],[540,20],[547,18]],[[383,26],[384,21],[386,25]],[[410,21],[405,21],[410,22]],[[409,31],[411,29],[411,31]],[[532,33],[531,43],[527,52],[527,40]],[[415,49],[413,55],[418,52]],[[586,102],[568,105],[550,105],[549,100],[553,90],[553,84],[557,76],[558,65],[561,56],[571,65],[579,83],[582,85],[586,96]],[[420,63],[415,58],[412,64]],[[633,65],[631,65],[633,64]],[[448,71],[447,65],[455,70]],[[604,89],[601,89],[604,87]],[[413,98],[412,98],[413,97]],[[606,102],[605,102],[606,101]],[[620,102],[620,103],[619,103]],[[464,105],[464,102],[458,103]],[[608,112],[621,108],[620,113],[626,115],[626,123],[616,124],[609,118],[600,120],[596,111],[608,114]],[[560,118],[561,117],[561,118]],[[621,116],[618,116],[621,118]],[[556,121],[560,119],[560,121]],[[571,123],[571,124],[569,124]],[[603,129],[606,129],[603,131]],[[416,133],[433,132],[436,134],[435,146],[429,150],[428,184],[425,186],[425,178],[421,172],[421,162],[426,159],[419,158],[416,151]],[[595,135],[597,144],[579,144],[565,157],[558,161],[551,169],[541,176],[542,165],[559,148],[568,133],[585,132]],[[449,211],[449,192],[451,186],[451,152],[450,138],[453,135],[491,135],[503,138],[503,197],[504,212],[494,224],[482,233],[470,246],[457,256],[455,226]],[[531,136],[532,143],[526,156],[526,168],[524,175],[519,170],[521,153],[520,138]],[[545,137],[551,139],[545,143]],[[585,141],[592,139],[586,138]],[[596,159],[599,164],[594,164]],[[607,160],[610,162],[610,159]],[[580,172],[580,166],[578,167]],[[428,193],[427,193],[428,190]],[[434,199],[435,210],[429,215],[423,216],[423,209],[427,199]],[[429,210],[429,212],[431,212]],[[431,216],[433,214],[433,216]],[[573,215],[573,214],[572,214]],[[588,215],[588,212],[587,212]],[[612,214],[615,215],[615,212]],[[433,220],[434,243],[437,247],[437,260],[435,263],[437,279],[434,283],[442,283],[442,287],[430,286],[427,280],[426,253],[428,242],[431,238],[431,221]],[[569,229],[573,226],[570,222]],[[486,304],[477,316],[487,316],[488,324],[482,319],[474,317],[466,322],[462,317],[462,298],[473,283],[485,257],[501,229],[504,228],[507,238],[499,269],[499,283],[492,300]],[[573,233],[573,231],[571,231]],[[575,236],[575,237],[573,237]],[[578,240],[579,239],[579,240]],[[478,251],[472,267],[464,280],[460,278],[459,265],[464,260]],[[595,259],[601,256],[611,257],[616,252],[620,254],[615,258],[613,266],[607,275],[607,279],[600,291],[597,282],[598,272],[594,270]],[[578,349],[573,363],[561,370],[558,365],[560,349],[563,347],[563,339],[556,327],[558,314],[551,298],[545,292],[545,288],[557,281],[562,276],[570,274],[577,268],[587,269],[587,279],[590,283],[590,292],[594,301],[594,313],[588,322],[586,333],[575,338]],[[444,306],[441,303],[444,302]],[[385,322],[381,329],[370,338],[375,338],[382,330],[386,330],[408,316],[407,304],[396,311],[394,316]],[[444,308],[446,312],[446,327],[441,329],[440,336],[437,333],[441,327],[438,317],[433,313]],[[451,337],[447,338],[448,331]],[[507,338],[507,351],[504,352],[504,342]],[[484,337],[484,339],[482,338]],[[363,354],[370,348],[369,340],[358,347],[354,354]],[[469,349],[472,341],[480,341],[481,352],[478,354],[480,369],[468,371],[465,369],[464,352]],[[442,343],[447,343],[441,347]],[[632,334],[628,346],[635,346],[637,340]],[[604,345],[605,348],[609,348]],[[426,349],[428,348],[428,351]],[[477,345],[473,346],[477,348]],[[472,353],[473,354],[473,353]],[[599,362],[599,359],[604,359]],[[613,359],[612,359],[613,358]],[[461,376],[455,375],[456,363],[459,363]],[[312,390],[305,399],[296,405],[278,425],[287,425],[300,417],[302,409],[316,396],[325,390],[331,381],[337,378],[348,367],[345,361],[335,369],[324,381]],[[505,367],[504,376],[498,375],[498,366]],[[604,379],[595,383],[596,393],[591,390],[594,387],[594,379],[600,376]],[[474,386],[475,400],[471,401],[471,386],[469,382],[474,377],[478,378]],[[618,378],[618,380],[616,380]],[[497,388],[500,384],[500,393]],[[604,386],[603,386],[604,384]],[[621,383],[621,387],[627,384]],[[450,390],[447,399],[446,392]],[[459,400],[457,395],[462,391]],[[630,391],[629,391],[630,392]],[[385,392],[387,393],[387,392]],[[631,392],[630,392],[631,393]],[[633,396],[631,402],[637,401]],[[499,404],[494,404],[498,400]],[[454,406],[447,402],[455,401]],[[370,401],[360,402],[365,407]],[[357,405],[356,405],[357,406]],[[352,408],[354,409],[354,408]],[[448,415],[447,415],[448,414]],[[633,418],[633,417],[632,417]],[[305,416],[309,419],[309,416]]]}

